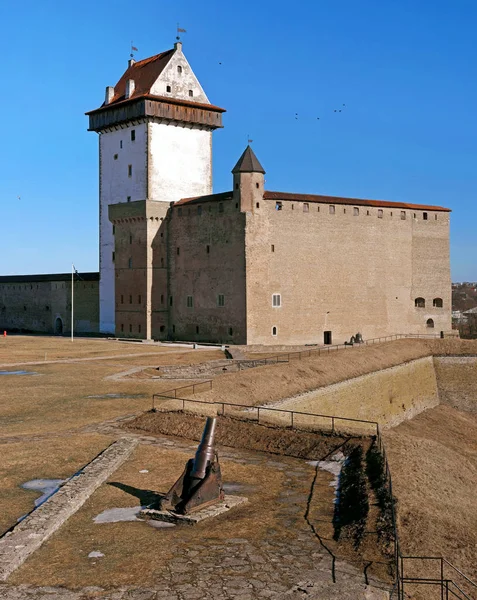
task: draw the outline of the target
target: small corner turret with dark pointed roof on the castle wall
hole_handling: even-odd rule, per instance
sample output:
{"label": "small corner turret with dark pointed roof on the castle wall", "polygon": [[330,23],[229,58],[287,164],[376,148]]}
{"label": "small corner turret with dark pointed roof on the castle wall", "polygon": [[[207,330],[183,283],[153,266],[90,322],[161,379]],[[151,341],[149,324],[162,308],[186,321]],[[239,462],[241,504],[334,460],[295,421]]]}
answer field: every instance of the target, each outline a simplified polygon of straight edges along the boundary
{"label": "small corner turret with dark pointed roof on the castle wall", "polygon": [[232,173],[234,200],[240,204],[241,212],[253,212],[256,199],[263,196],[265,169],[250,146],[245,148]]}

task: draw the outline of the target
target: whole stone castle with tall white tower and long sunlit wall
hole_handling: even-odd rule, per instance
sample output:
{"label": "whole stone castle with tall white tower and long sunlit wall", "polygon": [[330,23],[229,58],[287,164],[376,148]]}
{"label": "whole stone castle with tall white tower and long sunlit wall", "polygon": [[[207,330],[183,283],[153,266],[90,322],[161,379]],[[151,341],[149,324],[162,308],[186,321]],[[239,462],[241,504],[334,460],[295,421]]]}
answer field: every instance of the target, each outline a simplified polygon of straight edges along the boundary
{"label": "whole stone castle with tall white tower and long sunlit wall", "polygon": [[214,194],[224,112],[177,42],[131,59],[87,113],[102,333],[302,345],[451,330],[449,209],[267,191],[250,147]]}

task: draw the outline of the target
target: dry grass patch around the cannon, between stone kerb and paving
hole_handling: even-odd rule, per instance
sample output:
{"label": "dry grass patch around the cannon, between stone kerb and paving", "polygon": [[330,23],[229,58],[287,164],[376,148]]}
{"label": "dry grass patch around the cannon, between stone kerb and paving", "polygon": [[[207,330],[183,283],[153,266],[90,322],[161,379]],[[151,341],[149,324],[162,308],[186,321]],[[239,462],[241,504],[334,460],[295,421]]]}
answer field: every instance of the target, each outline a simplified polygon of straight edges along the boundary
{"label": "dry grass patch around the cannon, between stone kerb and paving", "polygon": [[[222,460],[226,481],[254,486],[249,503],[194,527],[154,529],[144,522],[95,524],[93,518],[108,508],[139,506],[138,495],[150,490],[164,492],[182,472],[188,454],[140,446],[133,459],[123,465],[110,482],[105,484],[71,517],[40,550],[38,550],[9,579],[12,584],[64,585],[69,588],[97,585],[101,587],[141,584],[160,581],[174,556],[183,554],[192,544],[226,543],[230,538],[261,540],[270,528],[283,531],[283,537],[294,535],[283,527],[278,516],[277,496],[283,487],[283,473],[261,465],[241,465]],[[286,459],[291,461],[293,459]],[[139,473],[142,469],[149,473]],[[310,469],[310,481],[313,468]],[[257,485],[260,482],[260,485]],[[303,483],[306,493],[309,482]],[[264,511],[263,507],[267,510]],[[99,550],[100,560],[88,554]]]}

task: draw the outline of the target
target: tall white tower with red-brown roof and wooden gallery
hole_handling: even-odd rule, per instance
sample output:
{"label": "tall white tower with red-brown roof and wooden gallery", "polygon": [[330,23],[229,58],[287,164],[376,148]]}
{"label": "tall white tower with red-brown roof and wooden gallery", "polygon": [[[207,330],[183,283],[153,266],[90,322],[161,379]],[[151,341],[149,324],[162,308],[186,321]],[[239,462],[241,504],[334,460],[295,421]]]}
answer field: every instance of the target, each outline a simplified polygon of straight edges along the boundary
{"label": "tall white tower with red-brown roof and wooden gallery", "polygon": [[[99,134],[100,331],[115,332],[114,235],[108,206],[176,202],[212,193],[212,131],[224,109],[210,104],[174,44],[156,56],[130,60],[103,105],[86,113]],[[144,265],[149,268],[150,265]]]}

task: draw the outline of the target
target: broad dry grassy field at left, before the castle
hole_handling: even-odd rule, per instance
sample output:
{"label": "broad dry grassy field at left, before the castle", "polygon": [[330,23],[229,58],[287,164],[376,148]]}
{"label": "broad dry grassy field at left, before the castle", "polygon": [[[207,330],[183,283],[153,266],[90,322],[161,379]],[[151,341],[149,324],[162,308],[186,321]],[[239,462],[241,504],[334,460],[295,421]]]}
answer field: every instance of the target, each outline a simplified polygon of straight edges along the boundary
{"label": "broad dry grassy field at left, before the castle", "polygon": [[[38,360],[45,353],[47,361],[70,359],[0,369],[34,373],[0,376],[0,531],[31,510],[39,495],[21,489],[21,483],[69,477],[112,441],[84,432],[85,428],[147,410],[154,392],[180,385],[116,378],[117,374],[141,366],[223,357],[213,349],[108,340],[9,336],[0,343],[0,364]],[[145,351],[147,355],[141,355]],[[107,356],[114,358],[103,360]]]}

